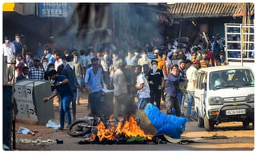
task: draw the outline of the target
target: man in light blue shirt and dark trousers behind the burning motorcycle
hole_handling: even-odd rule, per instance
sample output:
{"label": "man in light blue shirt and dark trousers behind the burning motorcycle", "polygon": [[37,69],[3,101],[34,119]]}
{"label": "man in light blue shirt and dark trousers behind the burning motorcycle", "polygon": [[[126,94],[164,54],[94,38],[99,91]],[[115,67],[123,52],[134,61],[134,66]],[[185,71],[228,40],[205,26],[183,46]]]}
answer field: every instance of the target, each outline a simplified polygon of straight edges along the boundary
{"label": "man in light blue shirt and dark trousers behind the burning motorcycle", "polygon": [[99,116],[101,110],[101,96],[103,87],[102,68],[98,64],[98,58],[91,59],[92,66],[86,70],[85,88],[89,92],[88,103],[90,104],[90,115]]}

